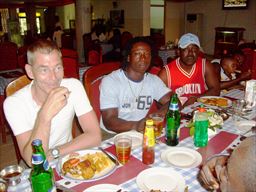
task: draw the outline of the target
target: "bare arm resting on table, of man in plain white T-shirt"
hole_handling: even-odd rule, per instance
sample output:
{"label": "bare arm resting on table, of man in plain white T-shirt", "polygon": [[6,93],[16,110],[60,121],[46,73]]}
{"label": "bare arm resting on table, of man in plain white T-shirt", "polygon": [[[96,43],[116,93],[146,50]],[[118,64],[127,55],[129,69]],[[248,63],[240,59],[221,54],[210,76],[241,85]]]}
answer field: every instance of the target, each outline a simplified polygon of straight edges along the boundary
{"label": "bare arm resting on table, of man in plain white T-shirt", "polygon": [[74,138],[72,141],[58,146],[61,155],[100,145],[101,131],[94,110],[79,116],[78,121],[83,133]]}

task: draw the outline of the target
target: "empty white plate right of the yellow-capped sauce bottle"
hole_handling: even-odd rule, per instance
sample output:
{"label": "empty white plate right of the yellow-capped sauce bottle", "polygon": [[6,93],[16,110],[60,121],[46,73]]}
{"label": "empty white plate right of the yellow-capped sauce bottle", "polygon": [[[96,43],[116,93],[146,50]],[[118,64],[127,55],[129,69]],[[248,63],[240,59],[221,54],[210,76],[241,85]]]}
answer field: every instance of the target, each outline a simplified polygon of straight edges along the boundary
{"label": "empty white plate right of the yellow-capped sauce bottle", "polygon": [[161,153],[161,159],[165,163],[178,168],[193,168],[202,162],[200,153],[185,147],[169,147]]}

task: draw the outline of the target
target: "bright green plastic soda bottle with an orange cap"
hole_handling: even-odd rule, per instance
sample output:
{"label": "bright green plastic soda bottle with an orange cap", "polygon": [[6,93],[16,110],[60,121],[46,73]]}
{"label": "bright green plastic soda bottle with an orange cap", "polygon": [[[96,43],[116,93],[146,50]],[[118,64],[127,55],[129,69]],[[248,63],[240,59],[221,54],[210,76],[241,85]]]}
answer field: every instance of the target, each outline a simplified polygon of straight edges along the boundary
{"label": "bright green plastic soda bottle with an orange cap", "polygon": [[209,119],[206,109],[201,105],[195,112],[194,144],[196,147],[205,147],[208,144]]}

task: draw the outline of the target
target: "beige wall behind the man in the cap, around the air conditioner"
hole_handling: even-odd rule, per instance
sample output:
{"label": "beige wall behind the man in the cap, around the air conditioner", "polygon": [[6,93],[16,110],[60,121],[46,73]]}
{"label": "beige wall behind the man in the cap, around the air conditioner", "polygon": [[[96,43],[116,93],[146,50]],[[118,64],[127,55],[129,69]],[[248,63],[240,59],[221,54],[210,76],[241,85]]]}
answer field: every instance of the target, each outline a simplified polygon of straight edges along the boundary
{"label": "beige wall behind the man in the cap, around the air conditioner", "polygon": [[[221,0],[167,2],[166,36],[173,40],[176,38],[175,35],[182,35],[184,33],[184,16],[188,13],[202,13],[203,38],[201,44],[206,53],[213,54],[214,52],[215,27],[244,27],[246,29],[244,39],[256,40],[256,1],[251,0],[249,3],[248,9],[245,10],[222,10]],[[182,6],[184,6],[184,10],[182,10]]]}

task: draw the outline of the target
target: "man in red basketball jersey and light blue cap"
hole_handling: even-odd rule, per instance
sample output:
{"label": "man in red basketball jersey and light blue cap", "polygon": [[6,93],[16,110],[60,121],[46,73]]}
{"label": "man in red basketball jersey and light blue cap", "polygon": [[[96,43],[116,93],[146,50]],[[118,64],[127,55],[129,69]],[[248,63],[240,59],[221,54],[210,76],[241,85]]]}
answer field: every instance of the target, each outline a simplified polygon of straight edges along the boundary
{"label": "man in red basketball jersey and light blue cap", "polygon": [[200,42],[192,33],[178,42],[179,57],[164,66],[159,77],[179,96],[183,106],[193,104],[198,97],[219,95],[220,84],[213,64],[199,57]]}

